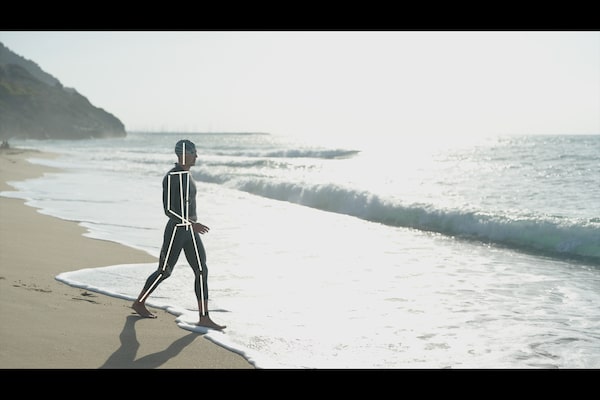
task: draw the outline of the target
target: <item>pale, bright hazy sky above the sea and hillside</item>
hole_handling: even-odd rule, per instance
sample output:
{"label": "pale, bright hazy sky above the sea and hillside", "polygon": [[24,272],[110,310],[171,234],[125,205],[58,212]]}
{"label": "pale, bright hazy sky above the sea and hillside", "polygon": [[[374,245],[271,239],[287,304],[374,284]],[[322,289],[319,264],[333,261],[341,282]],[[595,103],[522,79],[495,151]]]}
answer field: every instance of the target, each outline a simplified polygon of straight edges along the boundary
{"label": "pale, bright hazy sky above the sea and hillside", "polygon": [[600,134],[600,31],[0,31],[128,131]]}

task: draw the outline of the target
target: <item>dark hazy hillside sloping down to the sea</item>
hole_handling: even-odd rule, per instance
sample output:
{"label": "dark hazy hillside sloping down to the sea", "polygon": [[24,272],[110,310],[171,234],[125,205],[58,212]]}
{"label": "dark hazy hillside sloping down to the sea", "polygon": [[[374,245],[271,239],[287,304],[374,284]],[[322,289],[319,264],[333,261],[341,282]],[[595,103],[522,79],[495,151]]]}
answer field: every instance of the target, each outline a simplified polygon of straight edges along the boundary
{"label": "dark hazy hillside sloping down to the sea", "polygon": [[114,115],[0,43],[0,139],[125,136]]}

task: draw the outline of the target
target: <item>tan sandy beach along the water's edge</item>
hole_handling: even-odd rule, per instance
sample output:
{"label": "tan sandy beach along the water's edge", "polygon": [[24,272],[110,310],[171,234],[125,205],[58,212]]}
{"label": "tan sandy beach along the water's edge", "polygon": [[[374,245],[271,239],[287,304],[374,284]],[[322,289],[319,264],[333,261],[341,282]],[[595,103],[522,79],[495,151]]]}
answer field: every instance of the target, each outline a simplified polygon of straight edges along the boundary
{"label": "tan sandy beach along the water's edge", "polygon": [[[30,149],[0,151],[0,191],[13,190],[8,182],[52,172],[29,163],[31,156],[53,157]],[[66,271],[156,261],[85,232],[21,199],[0,197],[0,368],[254,368],[202,334],[179,328],[164,310],[151,308],[157,319],[141,318],[130,301],[57,281]]]}

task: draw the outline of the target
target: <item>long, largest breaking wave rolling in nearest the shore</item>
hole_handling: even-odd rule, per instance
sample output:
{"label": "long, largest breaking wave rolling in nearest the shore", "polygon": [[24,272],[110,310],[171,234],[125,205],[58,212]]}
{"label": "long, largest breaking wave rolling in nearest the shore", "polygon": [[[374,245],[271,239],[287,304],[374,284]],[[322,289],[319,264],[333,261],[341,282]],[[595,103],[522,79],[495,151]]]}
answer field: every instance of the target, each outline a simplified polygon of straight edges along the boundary
{"label": "long, largest breaking wave rolling in nearest the shore", "polygon": [[546,216],[515,218],[477,211],[443,210],[428,204],[403,205],[335,184],[301,185],[261,179],[229,183],[258,196],[389,226],[437,232],[600,265],[600,223],[594,220],[573,222]]}

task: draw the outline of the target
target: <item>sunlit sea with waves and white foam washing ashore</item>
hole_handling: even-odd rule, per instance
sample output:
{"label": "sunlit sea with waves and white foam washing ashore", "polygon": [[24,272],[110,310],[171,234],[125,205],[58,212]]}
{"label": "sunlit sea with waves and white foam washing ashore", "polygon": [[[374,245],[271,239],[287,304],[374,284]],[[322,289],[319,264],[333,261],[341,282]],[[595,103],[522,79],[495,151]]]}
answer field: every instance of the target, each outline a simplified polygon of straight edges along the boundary
{"label": "sunlit sea with waves and white foam washing ashore", "polygon": [[[161,181],[179,139],[208,256],[194,325],[182,255],[147,304],[257,368],[600,368],[600,135],[299,140],[144,133],[12,140],[59,167],[0,195],[158,257]],[[65,271],[133,300],[157,267]]]}

